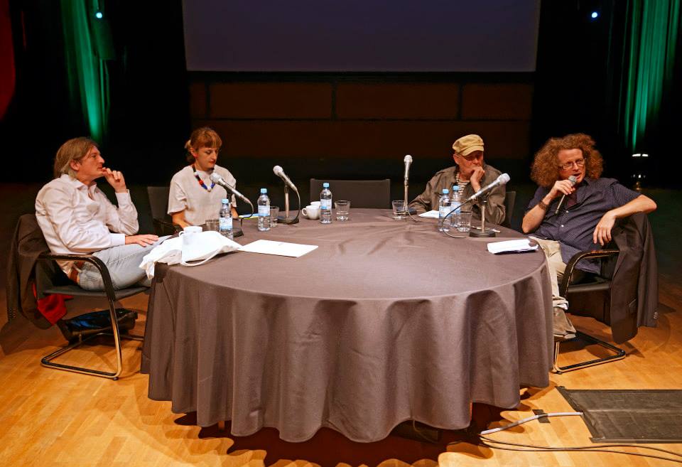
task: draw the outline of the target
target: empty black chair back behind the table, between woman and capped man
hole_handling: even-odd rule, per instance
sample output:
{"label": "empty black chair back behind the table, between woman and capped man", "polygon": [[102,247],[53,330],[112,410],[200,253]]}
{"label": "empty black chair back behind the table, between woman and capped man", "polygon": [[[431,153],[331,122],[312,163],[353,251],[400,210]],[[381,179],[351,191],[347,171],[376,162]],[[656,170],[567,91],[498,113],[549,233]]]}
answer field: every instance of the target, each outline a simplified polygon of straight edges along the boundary
{"label": "empty black chair back behind the table, between woman and capped man", "polygon": [[335,200],[349,200],[351,208],[391,208],[391,180],[318,180],[310,178],[310,198],[317,199],[328,182]]}

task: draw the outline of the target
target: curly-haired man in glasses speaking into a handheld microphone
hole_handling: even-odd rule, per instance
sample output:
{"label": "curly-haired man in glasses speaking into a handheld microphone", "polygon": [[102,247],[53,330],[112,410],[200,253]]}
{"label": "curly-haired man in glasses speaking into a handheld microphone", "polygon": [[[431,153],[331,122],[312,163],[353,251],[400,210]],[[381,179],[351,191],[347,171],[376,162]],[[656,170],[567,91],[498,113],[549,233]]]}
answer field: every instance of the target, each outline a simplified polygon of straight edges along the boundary
{"label": "curly-haired man in glasses speaking into a handheld microphone", "polygon": [[[614,178],[600,178],[602,168],[595,141],[582,133],[549,139],[533,161],[531,178],[539,187],[521,228],[524,233],[533,233],[547,257],[557,338],[573,338],[575,333],[564,313],[568,301],[559,295],[558,281],[566,263],[577,252],[599,249],[610,242],[616,219],[656,209],[651,198],[625,188]],[[574,182],[569,180],[571,176]],[[557,213],[563,195],[565,200]],[[599,263],[583,260],[577,269],[598,273]]]}

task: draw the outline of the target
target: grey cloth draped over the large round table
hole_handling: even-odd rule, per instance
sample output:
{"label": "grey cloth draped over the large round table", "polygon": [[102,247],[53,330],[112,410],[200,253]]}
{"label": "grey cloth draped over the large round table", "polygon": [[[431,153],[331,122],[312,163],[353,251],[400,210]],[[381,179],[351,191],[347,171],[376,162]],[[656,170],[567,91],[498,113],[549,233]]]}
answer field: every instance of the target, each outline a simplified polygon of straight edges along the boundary
{"label": "grey cloth draped over the large round table", "polygon": [[389,211],[301,220],[260,238],[318,249],[300,258],[235,252],[200,267],[159,265],[142,372],[149,397],[232,434],[263,426],[305,441],[329,426],[356,441],[407,419],[460,429],[470,402],[516,407],[548,385],[551,284],[542,252],[494,256]]}

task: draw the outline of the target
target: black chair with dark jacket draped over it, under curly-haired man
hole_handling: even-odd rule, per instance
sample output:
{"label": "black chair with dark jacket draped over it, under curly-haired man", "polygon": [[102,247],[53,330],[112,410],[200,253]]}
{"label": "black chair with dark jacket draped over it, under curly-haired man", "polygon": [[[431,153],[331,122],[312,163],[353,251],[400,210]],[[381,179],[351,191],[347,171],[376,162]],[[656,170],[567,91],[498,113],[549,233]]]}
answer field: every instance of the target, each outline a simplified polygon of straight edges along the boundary
{"label": "black chair with dark jacket draped over it, under curly-haired man", "polygon": [[[615,342],[625,342],[637,334],[638,326],[655,326],[656,321],[656,303],[657,303],[657,285],[654,279],[654,285],[639,284],[643,281],[643,276],[647,274],[656,274],[656,259],[655,252],[653,252],[653,241],[651,241],[651,249],[648,252],[646,261],[649,264],[648,271],[644,274],[640,269],[644,268],[641,262],[645,258],[644,245],[637,245],[637,248],[630,249],[627,242],[644,243],[646,238],[651,235],[651,227],[645,214],[635,214],[629,218],[621,219],[617,225],[612,229],[613,241],[607,245],[605,249],[600,249],[595,252],[578,252],[576,253],[566,265],[565,273],[561,284],[559,284],[559,293],[568,299],[569,309],[571,313],[578,312],[581,315],[592,316],[606,323],[612,328],[612,335]],[[628,233],[629,232],[629,233]],[[619,244],[619,245],[617,245]],[[623,247],[628,251],[622,252]],[[612,288],[616,279],[615,269],[617,263],[624,259],[620,257],[624,254],[630,264],[639,264],[637,271],[632,267],[629,269],[622,268],[623,272],[619,272],[621,284],[624,284],[624,289],[621,287],[619,291],[614,293]],[[637,256],[639,254],[639,256]],[[602,258],[601,272],[599,275],[588,274],[588,277],[578,284],[572,284],[571,279],[575,272],[575,266],[581,259]],[[646,290],[646,295],[642,296],[642,291]],[[638,301],[648,301],[648,304],[640,306]],[[634,310],[633,310],[634,306]],[[627,309],[620,309],[627,308]],[[643,309],[646,308],[646,309]],[[615,316],[618,313],[618,316]],[[581,340],[588,345],[596,344],[607,350],[608,354],[602,358],[594,358],[585,360],[573,365],[558,366],[557,359],[562,341],[555,340],[554,343],[554,372],[561,374],[563,372],[580,370],[580,368],[590,367],[593,365],[600,365],[602,363],[609,363],[625,358],[625,350],[615,345],[600,340],[587,333],[577,331],[576,340]]]}

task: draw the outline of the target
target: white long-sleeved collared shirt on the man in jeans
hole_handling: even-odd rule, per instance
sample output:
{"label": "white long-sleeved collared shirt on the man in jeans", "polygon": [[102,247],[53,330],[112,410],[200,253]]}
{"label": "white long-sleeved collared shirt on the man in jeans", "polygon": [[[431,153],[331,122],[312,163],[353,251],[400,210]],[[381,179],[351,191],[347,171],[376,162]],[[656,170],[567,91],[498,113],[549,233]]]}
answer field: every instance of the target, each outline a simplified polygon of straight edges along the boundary
{"label": "white long-sleeved collared shirt on the man in jeans", "polygon": [[[88,187],[66,174],[40,188],[36,218],[53,253],[92,253],[125,245],[139,229],[130,193],[116,193],[117,208],[96,184]],[[112,233],[114,232],[114,233]],[[72,262],[60,262],[68,275]]]}

